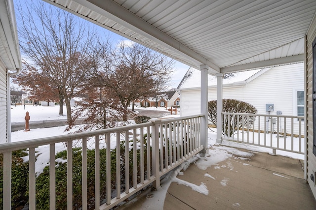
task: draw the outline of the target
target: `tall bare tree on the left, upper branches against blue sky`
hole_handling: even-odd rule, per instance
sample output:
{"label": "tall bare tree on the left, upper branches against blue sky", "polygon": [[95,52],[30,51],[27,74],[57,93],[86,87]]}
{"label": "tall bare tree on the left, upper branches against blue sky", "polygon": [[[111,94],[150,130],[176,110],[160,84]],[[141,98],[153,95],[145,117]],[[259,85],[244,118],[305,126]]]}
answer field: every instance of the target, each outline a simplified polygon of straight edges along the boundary
{"label": "tall bare tree on the left, upper branches against blue sky", "polygon": [[72,123],[70,100],[86,85],[95,32],[73,14],[43,2],[18,5],[18,11],[22,55],[57,87],[65,100],[67,122]]}

